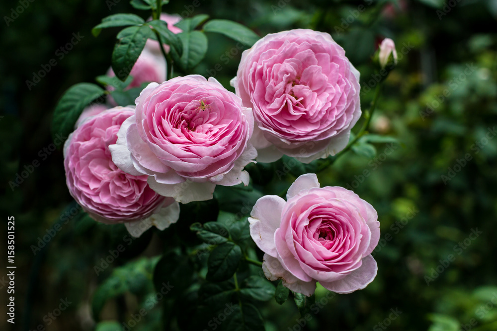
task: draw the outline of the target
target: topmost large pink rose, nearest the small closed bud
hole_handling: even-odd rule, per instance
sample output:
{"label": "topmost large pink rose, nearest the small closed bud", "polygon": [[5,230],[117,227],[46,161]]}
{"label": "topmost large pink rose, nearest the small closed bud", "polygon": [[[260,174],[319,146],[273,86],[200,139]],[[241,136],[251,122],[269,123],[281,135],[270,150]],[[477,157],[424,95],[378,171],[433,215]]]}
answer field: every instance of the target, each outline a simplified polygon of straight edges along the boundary
{"label": "topmost large pink rose, nearest the small closed bud", "polygon": [[232,85],[253,109],[251,142],[261,162],[334,155],[361,116],[359,71],[328,33],[266,35],[242,54]]}

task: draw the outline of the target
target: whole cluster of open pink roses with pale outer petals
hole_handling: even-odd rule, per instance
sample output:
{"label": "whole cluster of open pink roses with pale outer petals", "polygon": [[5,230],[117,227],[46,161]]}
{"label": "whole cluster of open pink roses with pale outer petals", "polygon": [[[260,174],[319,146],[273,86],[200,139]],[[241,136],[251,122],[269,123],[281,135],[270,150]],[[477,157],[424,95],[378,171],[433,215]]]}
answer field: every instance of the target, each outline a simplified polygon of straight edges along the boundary
{"label": "whole cluster of open pink roses with pale outer petals", "polygon": [[[216,185],[248,185],[250,162],[334,155],[361,116],[359,72],[327,33],[260,39],[242,55],[236,94],[212,77],[164,81],[156,74],[164,66],[144,63],[131,71],[133,84],[157,82],[135,105],[83,112],[64,146],[71,195],[97,221],[125,223],[134,236],[177,221],[178,202],[212,199]],[[377,213],[351,191],[320,188],[306,174],[287,201],[262,197],[250,215],[266,277],[295,292],[312,295],[319,281],[349,293],[376,275]]]}

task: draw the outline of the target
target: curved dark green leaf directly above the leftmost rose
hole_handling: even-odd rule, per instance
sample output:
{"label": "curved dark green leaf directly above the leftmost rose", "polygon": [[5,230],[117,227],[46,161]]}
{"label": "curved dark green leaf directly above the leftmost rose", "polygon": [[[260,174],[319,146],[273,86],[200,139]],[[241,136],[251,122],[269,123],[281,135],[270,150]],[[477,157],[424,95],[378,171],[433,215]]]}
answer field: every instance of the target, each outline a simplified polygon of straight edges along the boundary
{"label": "curved dark green leaf directly above the leftmost rose", "polygon": [[100,86],[90,83],[79,83],[71,86],[61,97],[55,107],[52,119],[52,136],[67,136],[74,131],[74,125],[91,101],[105,94]]}

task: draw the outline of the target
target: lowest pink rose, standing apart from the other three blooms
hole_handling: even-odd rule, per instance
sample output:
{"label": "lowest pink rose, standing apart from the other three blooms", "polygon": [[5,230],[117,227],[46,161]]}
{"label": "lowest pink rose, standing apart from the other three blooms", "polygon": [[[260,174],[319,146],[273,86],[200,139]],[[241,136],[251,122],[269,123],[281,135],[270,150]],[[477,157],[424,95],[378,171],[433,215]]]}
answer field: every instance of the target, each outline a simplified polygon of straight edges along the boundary
{"label": "lowest pink rose, standing apart from the other three blooms", "polygon": [[265,253],[264,274],[292,291],[310,296],[319,281],[350,293],[376,276],[371,252],[380,238],[378,215],[352,191],[320,188],[315,174],[305,174],[288,189],[286,202],[262,197],[250,216],[250,235]]}

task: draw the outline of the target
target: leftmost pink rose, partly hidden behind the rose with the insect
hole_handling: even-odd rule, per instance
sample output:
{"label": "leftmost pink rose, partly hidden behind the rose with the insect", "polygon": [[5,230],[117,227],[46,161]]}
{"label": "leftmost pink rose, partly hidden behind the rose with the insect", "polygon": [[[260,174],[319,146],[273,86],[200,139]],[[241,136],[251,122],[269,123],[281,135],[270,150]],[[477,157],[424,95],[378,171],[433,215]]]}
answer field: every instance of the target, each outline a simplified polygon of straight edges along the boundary
{"label": "leftmost pink rose, partly hidden behind the rose with the insect", "polygon": [[133,114],[131,107],[115,107],[85,118],[71,133],[64,145],[67,186],[84,211],[99,222],[142,221],[164,229],[179,217],[177,202],[152,190],[147,176],[127,174],[112,162],[109,145]]}

